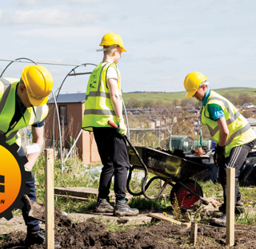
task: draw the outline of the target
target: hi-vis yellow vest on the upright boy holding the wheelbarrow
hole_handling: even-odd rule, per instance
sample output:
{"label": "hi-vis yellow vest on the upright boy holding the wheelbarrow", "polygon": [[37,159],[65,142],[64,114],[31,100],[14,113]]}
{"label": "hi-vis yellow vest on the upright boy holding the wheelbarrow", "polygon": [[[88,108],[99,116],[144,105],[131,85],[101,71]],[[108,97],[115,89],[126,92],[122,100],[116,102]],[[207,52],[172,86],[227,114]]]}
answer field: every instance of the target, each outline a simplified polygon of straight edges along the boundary
{"label": "hi-vis yellow vest on the upright boy holding the wheelbarrow", "polygon": [[[114,121],[115,124],[118,122],[110,99],[110,89],[107,86],[106,71],[110,66],[114,66],[118,73],[114,63],[104,61],[90,74],[82,120],[82,128],[86,131],[91,132],[93,127],[111,127],[108,121]],[[121,97],[120,73],[118,73],[118,94]]]}

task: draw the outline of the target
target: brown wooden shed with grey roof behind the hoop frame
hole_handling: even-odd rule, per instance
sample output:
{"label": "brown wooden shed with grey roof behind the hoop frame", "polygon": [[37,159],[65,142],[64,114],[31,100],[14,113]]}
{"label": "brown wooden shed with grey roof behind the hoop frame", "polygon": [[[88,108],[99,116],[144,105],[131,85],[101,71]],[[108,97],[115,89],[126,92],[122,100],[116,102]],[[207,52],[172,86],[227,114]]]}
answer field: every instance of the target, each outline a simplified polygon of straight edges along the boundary
{"label": "brown wooden shed with grey roof behind the hoop frame", "polygon": [[[82,118],[85,111],[85,99],[86,93],[68,93],[58,96],[57,104],[61,133],[64,133],[64,139],[62,137],[62,141],[65,140],[64,146],[67,150],[72,146],[70,146],[70,141],[73,143],[81,131]],[[45,124],[46,147],[50,147],[53,138],[54,98],[48,101],[48,105],[49,114]],[[59,140],[57,112],[55,112],[54,117],[54,140]],[[93,132],[82,131],[76,143],[76,148],[78,148],[78,155],[81,157],[83,164],[101,161]]]}

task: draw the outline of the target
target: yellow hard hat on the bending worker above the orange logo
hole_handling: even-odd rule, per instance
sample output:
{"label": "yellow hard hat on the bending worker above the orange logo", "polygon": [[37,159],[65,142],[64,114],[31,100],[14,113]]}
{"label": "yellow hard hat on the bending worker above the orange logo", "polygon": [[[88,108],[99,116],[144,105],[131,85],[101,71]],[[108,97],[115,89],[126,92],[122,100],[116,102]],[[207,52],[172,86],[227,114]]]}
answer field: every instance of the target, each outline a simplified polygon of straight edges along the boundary
{"label": "yellow hard hat on the bending worker above the orange logo", "polygon": [[26,65],[22,70],[22,81],[31,105],[41,106],[48,101],[48,95],[53,89],[53,77],[42,65]]}

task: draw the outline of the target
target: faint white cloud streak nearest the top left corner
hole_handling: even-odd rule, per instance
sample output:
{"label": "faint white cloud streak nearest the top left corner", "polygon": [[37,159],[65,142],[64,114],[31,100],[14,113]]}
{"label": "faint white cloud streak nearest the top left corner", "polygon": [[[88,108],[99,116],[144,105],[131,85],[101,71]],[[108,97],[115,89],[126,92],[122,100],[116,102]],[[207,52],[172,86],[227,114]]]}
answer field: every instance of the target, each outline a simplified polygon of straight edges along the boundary
{"label": "faint white cloud streak nearest the top left corner", "polygon": [[0,18],[6,24],[39,24],[39,25],[58,25],[58,26],[81,26],[88,22],[93,22],[102,18],[100,14],[86,13],[82,10],[18,10],[14,14],[3,13]]}

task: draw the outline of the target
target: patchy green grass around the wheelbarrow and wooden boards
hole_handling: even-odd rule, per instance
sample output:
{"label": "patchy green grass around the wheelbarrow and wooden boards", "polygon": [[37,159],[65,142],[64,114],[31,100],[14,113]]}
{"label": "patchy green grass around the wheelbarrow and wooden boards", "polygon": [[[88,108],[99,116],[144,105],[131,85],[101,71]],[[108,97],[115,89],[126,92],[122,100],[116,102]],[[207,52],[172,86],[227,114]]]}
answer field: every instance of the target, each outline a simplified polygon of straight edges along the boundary
{"label": "patchy green grass around the wheelbarrow and wooden boards", "polygon": [[[88,173],[83,175],[82,173],[85,171],[85,167],[82,162],[78,160],[78,158],[74,158],[72,163],[69,162],[71,168],[68,172],[61,172],[60,160],[55,160],[54,162],[54,187],[86,187],[86,188],[98,188],[98,180],[92,180]],[[93,168],[98,165],[89,165],[89,168]],[[38,196],[38,202],[44,204],[45,203],[45,175],[44,175],[44,156],[40,156],[37,164],[35,164],[34,176],[36,178],[36,192]],[[130,189],[132,192],[141,192],[142,180],[138,180],[138,172],[142,172],[139,170],[134,170],[134,176],[130,182]],[[98,173],[98,177],[100,174]],[[154,176],[153,174],[149,174],[149,178]],[[214,184],[212,182],[199,182],[202,187],[202,191],[206,197],[215,197],[217,200],[222,203],[222,186],[221,184]],[[110,190],[114,189],[114,184],[112,183],[110,186]],[[240,192],[242,193],[242,202],[245,207],[256,207],[256,188],[249,187],[240,187]],[[147,189],[146,194],[148,196],[155,196],[160,190],[160,182],[159,180],[154,180],[154,182],[150,185],[150,188]],[[171,186],[168,185],[162,194],[170,194]],[[55,196],[55,207],[60,208],[62,211],[66,211],[66,213],[87,213],[94,211],[94,207],[96,205],[96,198],[92,198],[89,201],[81,201],[74,200],[69,196],[60,197]],[[143,196],[134,196],[132,200],[130,200],[130,207],[136,207],[141,210],[146,210],[148,212],[153,210],[161,210],[162,212],[170,211],[172,209],[170,205],[170,200],[168,197],[163,198],[162,200],[148,200]],[[202,210],[201,210],[202,211]],[[198,217],[200,216],[201,211],[198,212]],[[15,215],[19,214],[15,211]],[[256,215],[243,215],[240,219],[237,219],[237,223],[241,224],[255,224]],[[206,219],[198,219],[200,223],[208,223],[208,220],[211,217],[209,216]],[[194,219],[194,218],[193,218]],[[184,220],[182,220],[184,221]],[[118,225],[108,224],[110,227],[110,231],[116,231],[118,229]],[[120,230],[120,229],[119,229]]]}

